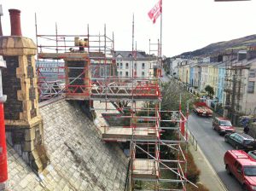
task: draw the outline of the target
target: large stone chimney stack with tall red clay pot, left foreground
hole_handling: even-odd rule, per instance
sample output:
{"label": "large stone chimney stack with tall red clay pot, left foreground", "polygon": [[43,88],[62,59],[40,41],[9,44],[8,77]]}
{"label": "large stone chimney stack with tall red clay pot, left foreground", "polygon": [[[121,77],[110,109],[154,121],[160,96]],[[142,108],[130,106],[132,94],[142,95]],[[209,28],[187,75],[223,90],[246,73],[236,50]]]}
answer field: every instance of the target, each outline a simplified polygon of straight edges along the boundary
{"label": "large stone chimney stack with tall red clay pot, left foreground", "polygon": [[3,92],[8,96],[4,115],[8,143],[38,173],[49,162],[44,148],[43,120],[38,113],[38,85],[34,56],[37,47],[24,38],[20,10],[9,9],[11,36],[0,37],[0,55],[6,61]]}

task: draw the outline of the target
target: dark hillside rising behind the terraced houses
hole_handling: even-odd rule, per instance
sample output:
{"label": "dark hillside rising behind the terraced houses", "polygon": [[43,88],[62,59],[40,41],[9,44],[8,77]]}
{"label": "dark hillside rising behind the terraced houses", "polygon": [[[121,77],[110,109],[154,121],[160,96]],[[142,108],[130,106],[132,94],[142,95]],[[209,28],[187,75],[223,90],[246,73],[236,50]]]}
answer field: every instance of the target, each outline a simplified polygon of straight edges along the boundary
{"label": "dark hillside rising behind the terraced houses", "polygon": [[184,52],[176,57],[183,56],[202,56],[202,55],[214,55],[224,51],[237,51],[240,49],[246,49],[249,46],[256,46],[256,35],[250,35],[244,38],[237,38],[230,41],[223,41],[218,43],[211,43],[202,49],[196,49],[194,51]]}

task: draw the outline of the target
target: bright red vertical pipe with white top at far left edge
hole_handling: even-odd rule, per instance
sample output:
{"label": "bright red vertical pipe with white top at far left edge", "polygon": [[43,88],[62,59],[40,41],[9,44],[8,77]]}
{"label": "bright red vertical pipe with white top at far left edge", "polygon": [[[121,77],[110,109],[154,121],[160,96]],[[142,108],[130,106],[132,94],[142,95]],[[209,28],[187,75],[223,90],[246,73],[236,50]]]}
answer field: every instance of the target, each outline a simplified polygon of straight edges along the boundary
{"label": "bright red vertical pipe with white top at far left edge", "polygon": [[7,152],[5,141],[5,125],[4,125],[4,112],[3,102],[6,101],[6,96],[3,95],[2,85],[2,68],[6,67],[6,62],[3,61],[3,56],[0,56],[0,189],[5,187],[4,182],[8,179],[7,171]]}

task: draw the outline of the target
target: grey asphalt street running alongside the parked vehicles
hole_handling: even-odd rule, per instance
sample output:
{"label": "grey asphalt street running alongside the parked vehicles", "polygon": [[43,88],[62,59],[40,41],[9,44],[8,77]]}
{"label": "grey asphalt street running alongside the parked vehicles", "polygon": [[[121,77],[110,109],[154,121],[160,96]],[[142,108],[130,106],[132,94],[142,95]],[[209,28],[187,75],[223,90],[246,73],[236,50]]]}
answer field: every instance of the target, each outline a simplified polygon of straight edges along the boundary
{"label": "grey asphalt street running alongside the parked vehicles", "polygon": [[242,191],[239,182],[234,177],[228,175],[224,168],[224,153],[234,148],[224,142],[224,136],[219,136],[212,129],[212,119],[202,118],[196,116],[195,113],[191,113],[188,124],[189,130],[194,134],[199,147],[207,157],[214,171],[218,174],[218,177],[224,182],[225,187],[230,191]]}

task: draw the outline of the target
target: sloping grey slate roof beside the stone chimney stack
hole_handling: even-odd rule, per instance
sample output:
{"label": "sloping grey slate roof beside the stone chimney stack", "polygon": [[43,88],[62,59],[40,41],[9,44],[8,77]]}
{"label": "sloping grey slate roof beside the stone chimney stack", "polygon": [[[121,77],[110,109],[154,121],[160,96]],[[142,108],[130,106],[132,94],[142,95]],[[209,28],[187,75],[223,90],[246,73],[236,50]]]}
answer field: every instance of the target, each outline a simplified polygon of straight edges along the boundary
{"label": "sloping grey slate roof beside the stone chimney stack", "polygon": [[40,180],[9,148],[12,190],[124,190],[128,160],[119,146],[101,141],[95,124],[74,101],[56,101],[40,108],[50,165]]}

